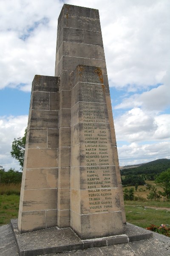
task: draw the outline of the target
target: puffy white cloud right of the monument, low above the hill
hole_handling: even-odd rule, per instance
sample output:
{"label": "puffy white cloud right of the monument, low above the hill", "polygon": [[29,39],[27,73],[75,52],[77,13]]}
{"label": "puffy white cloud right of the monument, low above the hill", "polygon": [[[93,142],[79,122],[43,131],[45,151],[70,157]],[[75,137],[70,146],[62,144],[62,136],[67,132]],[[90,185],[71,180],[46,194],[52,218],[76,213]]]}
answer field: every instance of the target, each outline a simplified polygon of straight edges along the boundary
{"label": "puffy white cloud right of the monument, low above the hill", "polygon": [[114,122],[118,140],[142,142],[170,138],[170,114],[153,116],[140,108],[133,108]]}

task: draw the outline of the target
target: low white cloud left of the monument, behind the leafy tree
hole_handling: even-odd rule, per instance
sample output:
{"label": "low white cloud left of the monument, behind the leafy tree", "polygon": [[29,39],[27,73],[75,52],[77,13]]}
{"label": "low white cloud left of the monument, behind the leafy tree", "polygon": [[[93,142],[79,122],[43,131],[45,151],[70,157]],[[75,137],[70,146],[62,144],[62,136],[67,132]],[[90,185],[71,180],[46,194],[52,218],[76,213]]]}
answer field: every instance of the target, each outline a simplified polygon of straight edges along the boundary
{"label": "low white cloud left of the monument, behind the leafy tree", "polygon": [[0,165],[6,170],[20,170],[18,162],[11,157],[11,142],[14,138],[23,137],[28,123],[28,116],[0,117]]}

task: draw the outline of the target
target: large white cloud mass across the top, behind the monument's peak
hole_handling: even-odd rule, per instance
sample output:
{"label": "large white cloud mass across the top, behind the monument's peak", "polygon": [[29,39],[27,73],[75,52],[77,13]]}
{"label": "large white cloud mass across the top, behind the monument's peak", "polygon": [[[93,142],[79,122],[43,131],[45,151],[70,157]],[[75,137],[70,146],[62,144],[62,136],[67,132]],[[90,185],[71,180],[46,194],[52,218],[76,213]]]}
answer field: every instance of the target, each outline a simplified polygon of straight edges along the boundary
{"label": "large white cloud mass across the top, behind the monument's peak", "polygon": [[[110,86],[136,91],[160,82],[170,59],[168,0],[68,0],[99,9]],[[63,2],[0,1],[0,88],[54,75],[57,18]],[[25,41],[20,38],[28,37]]]}

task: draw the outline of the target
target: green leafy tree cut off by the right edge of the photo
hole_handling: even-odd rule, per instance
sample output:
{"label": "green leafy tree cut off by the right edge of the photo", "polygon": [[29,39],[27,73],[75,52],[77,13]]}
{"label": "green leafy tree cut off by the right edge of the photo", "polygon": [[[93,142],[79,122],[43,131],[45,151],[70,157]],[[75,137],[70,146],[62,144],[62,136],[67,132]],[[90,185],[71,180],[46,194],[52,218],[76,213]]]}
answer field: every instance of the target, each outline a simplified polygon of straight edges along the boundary
{"label": "green leafy tree cut off by the right edge of the photo", "polygon": [[164,192],[161,193],[161,195],[165,196],[168,200],[170,196],[170,168],[159,174],[159,176],[156,177],[155,182],[163,188]]}

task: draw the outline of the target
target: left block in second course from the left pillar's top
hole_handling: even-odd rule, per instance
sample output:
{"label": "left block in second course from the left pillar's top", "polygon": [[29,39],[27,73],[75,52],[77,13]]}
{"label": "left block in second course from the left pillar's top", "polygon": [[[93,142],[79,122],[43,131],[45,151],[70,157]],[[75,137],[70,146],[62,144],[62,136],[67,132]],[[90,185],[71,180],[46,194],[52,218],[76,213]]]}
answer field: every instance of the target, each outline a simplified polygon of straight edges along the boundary
{"label": "left block in second course from the left pillar's top", "polygon": [[33,91],[32,109],[49,110],[50,95],[49,92]]}

